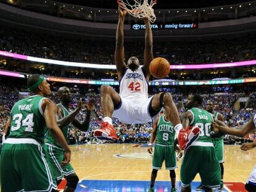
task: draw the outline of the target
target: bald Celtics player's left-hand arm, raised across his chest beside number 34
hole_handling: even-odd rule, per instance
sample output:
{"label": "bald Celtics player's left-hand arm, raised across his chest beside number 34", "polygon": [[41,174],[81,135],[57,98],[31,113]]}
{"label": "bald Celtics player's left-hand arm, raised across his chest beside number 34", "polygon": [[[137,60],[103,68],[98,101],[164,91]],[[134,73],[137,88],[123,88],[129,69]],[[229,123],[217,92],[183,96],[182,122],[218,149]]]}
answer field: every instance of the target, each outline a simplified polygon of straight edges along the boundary
{"label": "bald Celtics player's left-hand arm, raised across his chest beside number 34", "polygon": [[81,111],[82,109],[82,101],[78,101],[77,102],[77,109],[75,109],[74,111],[72,111],[69,115],[67,115],[66,117],[64,117],[63,115],[63,110],[61,107],[58,106],[58,126],[59,128],[64,128],[67,125],[69,125],[71,122],[74,121],[75,116],[77,116],[77,114],[79,114],[79,111]]}

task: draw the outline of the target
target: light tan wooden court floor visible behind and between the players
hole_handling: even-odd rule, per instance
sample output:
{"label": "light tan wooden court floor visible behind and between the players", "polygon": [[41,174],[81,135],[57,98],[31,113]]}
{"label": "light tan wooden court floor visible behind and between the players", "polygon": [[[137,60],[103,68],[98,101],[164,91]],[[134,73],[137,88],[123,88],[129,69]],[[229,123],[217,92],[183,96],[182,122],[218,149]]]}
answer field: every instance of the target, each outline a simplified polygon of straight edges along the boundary
{"label": "light tan wooden court floor visible behind and between the players", "polygon": [[[72,146],[71,164],[80,180],[150,180],[151,156],[147,147],[135,144],[83,144]],[[256,149],[241,151],[240,146],[224,146],[224,182],[246,182],[255,165]],[[176,180],[180,181],[177,162]],[[163,165],[164,166],[164,165]],[[169,181],[162,167],[156,180]],[[195,181],[200,181],[197,175]]]}

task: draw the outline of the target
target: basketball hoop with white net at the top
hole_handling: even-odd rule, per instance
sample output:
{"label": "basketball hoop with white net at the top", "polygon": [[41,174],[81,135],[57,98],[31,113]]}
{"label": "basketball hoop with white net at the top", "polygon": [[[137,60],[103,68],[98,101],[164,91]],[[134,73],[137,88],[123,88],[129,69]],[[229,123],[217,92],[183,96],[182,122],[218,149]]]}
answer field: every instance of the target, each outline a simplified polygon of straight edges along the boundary
{"label": "basketball hoop with white net at the top", "polygon": [[139,19],[148,18],[151,23],[156,20],[153,9],[156,2],[157,0],[117,0],[119,6],[129,12],[130,15]]}

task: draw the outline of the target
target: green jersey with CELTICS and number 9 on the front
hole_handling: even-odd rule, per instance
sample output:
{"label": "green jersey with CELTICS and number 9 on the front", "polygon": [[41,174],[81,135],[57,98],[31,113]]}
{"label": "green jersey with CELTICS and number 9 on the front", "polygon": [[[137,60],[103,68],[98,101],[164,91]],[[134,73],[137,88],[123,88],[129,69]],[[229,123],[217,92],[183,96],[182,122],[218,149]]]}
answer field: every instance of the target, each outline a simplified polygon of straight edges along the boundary
{"label": "green jersey with CELTICS and number 9 on the front", "polygon": [[173,123],[164,120],[164,115],[158,120],[156,134],[156,144],[173,145],[175,136]]}

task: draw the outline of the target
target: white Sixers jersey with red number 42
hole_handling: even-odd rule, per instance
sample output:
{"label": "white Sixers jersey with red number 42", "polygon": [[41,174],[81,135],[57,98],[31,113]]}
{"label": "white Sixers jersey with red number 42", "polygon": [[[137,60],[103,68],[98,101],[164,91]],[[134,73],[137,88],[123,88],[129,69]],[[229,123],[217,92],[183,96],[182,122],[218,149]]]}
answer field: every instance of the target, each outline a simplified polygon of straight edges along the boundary
{"label": "white Sixers jersey with red number 42", "polygon": [[[143,74],[142,68],[135,70],[126,70],[124,76],[119,82],[121,98],[132,98],[145,100],[148,99],[148,82]],[[136,102],[136,101],[135,101]]]}

